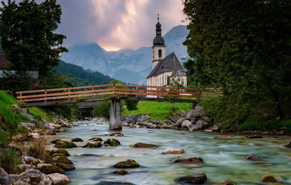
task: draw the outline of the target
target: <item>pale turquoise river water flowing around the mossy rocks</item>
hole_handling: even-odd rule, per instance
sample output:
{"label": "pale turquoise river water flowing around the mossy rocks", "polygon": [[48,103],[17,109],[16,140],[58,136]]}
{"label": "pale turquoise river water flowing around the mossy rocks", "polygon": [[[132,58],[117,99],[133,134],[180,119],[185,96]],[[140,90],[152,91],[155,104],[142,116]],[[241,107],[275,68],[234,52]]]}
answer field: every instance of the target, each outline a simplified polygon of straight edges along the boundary
{"label": "pale turquoise river water flowing around the mossy rocks", "polygon": [[[80,122],[73,122],[74,124]],[[89,123],[87,121],[87,123]],[[90,122],[93,123],[94,122]],[[95,122],[96,123],[96,122]],[[205,173],[208,185],[223,181],[234,181],[238,185],[260,185],[263,175],[279,176],[286,185],[291,185],[291,149],[283,146],[290,138],[276,139],[264,136],[263,139],[244,139],[244,135],[231,135],[230,139],[214,139],[219,133],[193,132],[171,129],[140,129],[124,127],[126,137],[101,136],[118,139],[118,147],[82,148],[88,139],[101,131],[108,131],[108,125],[81,125],[66,128],[50,139],[70,141],[75,137],[83,142],[75,142],[78,148],[68,148],[68,157],[76,170],[68,171],[71,185],[106,185],[108,182],[124,181],[135,185],[176,185],[179,176]],[[97,131],[89,131],[97,129]],[[185,133],[185,134],[181,134]],[[143,142],[156,144],[159,148],[132,148],[129,145]],[[54,147],[54,145],[50,145]],[[165,148],[183,148],[184,154],[161,154]],[[224,152],[222,152],[224,151]],[[84,153],[98,154],[98,157],[81,156]],[[247,161],[249,154],[256,154],[262,161]],[[203,164],[173,164],[182,158],[201,157]],[[126,169],[126,175],[112,174],[113,165],[126,159],[133,159],[141,167]]]}

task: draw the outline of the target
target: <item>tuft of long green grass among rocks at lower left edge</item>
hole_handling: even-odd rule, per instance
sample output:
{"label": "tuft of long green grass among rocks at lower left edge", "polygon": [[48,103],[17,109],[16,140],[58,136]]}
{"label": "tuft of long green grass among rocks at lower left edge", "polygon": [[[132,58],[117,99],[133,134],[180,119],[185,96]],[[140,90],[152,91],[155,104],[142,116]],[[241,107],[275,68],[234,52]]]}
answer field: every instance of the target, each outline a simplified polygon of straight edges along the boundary
{"label": "tuft of long green grass among rocks at lower left edge", "polygon": [[16,166],[20,164],[20,159],[15,152],[15,148],[0,150],[0,166],[8,173],[16,172]]}

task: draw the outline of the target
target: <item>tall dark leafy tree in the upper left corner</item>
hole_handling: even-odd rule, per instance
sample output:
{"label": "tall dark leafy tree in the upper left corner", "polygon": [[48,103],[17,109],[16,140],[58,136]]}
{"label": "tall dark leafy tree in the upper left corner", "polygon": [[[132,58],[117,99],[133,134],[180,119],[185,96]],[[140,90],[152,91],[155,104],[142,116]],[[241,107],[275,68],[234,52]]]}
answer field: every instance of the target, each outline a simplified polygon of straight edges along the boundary
{"label": "tall dark leafy tree in the upper left corner", "polygon": [[56,0],[23,0],[19,4],[1,1],[0,36],[9,68],[16,71],[38,70],[41,76],[57,66],[62,47],[62,34],[56,34],[62,9]]}

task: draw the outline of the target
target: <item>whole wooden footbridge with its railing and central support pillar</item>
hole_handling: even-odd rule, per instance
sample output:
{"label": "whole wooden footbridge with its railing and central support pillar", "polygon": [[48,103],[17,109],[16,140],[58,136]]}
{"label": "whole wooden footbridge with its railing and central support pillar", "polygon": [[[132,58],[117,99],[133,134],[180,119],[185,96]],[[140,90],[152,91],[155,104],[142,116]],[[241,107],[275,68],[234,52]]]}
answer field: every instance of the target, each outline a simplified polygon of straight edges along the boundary
{"label": "whole wooden footbridge with its railing and central support pillar", "polygon": [[121,100],[197,103],[201,98],[222,96],[220,88],[176,88],[107,84],[16,92],[19,106],[41,107],[60,104],[88,104],[111,100],[109,129],[122,129]]}

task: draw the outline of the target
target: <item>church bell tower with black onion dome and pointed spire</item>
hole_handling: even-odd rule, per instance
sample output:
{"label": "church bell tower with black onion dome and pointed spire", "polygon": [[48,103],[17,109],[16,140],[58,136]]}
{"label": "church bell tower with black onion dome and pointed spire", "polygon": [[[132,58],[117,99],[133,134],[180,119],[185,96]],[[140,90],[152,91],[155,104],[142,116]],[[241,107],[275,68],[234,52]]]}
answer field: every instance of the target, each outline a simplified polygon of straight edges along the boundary
{"label": "church bell tower with black onion dome and pointed spire", "polygon": [[153,40],[154,46],[152,47],[152,69],[154,69],[160,60],[166,57],[166,46],[165,40],[162,37],[162,25],[159,22],[158,14],[158,23],[156,24],[156,37]]}

